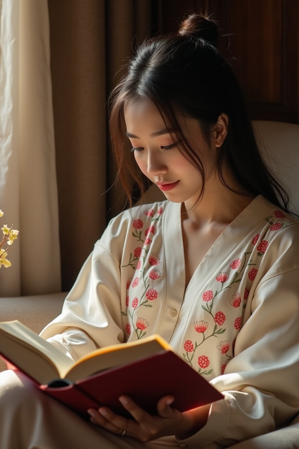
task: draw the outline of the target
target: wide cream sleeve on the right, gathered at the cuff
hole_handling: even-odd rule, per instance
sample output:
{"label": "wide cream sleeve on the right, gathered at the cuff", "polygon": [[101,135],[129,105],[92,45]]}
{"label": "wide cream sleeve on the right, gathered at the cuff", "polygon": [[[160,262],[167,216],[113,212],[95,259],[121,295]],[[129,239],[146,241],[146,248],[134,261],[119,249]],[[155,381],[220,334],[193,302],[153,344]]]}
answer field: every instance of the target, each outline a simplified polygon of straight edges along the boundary
{"label": "wide cream sleeve on the right, gathered at the cuff", "polygon": [[260,282],[234,358],[225,374],[211,381],[225,398],[211,405],[199,432],[185,440],[177,437],[180,443],[222,448],[273,431],[298,414],[299,268],[295,261],[289,265]]}

